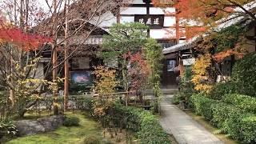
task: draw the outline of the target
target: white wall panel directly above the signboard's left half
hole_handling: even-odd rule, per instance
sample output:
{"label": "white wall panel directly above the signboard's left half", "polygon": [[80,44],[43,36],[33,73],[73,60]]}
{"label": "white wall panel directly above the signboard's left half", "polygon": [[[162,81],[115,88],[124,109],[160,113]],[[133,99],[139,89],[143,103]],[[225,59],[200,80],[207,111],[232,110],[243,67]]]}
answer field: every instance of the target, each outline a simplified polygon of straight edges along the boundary
{"label": "white wall panel directly above the signboard's left half", "polygon": [[122,7],[120,14],[146,14],[146,7]]}

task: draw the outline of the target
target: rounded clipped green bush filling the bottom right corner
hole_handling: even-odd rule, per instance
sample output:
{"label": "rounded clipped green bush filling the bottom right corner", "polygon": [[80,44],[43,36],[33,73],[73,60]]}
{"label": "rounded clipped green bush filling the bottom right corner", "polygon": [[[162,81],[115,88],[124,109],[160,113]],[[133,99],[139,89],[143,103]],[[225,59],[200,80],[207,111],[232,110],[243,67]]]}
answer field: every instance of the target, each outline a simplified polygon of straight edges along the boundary
{"label": "rounded clipped green bush filling the bottom right corner", "polygon": [[226,120],[226,127],[232,138],[245,143],[256,143],[256,115],[232,114]]}

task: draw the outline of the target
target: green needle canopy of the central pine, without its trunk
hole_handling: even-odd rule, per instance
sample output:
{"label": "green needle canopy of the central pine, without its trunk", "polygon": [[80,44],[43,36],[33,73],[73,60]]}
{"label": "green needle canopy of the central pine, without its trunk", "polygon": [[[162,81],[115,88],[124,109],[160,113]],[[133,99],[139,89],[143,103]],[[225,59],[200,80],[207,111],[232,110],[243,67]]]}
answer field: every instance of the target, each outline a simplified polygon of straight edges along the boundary
{"label": "green needle canopy of the central pine, without its trunk", "polygon": [[110,27],[110,35],[104,36],[102,58],[113,59],[128,52],[137,53],[146,42],[147,29],[147,26],[138,22],[114,24]]}

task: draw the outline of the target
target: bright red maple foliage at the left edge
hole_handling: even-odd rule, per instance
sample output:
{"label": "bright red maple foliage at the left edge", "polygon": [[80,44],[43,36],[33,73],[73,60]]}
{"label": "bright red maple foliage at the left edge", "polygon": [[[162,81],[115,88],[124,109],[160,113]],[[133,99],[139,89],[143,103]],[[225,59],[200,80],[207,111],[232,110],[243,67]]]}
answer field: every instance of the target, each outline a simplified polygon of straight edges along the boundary
{"label": "bright red maple foliage at the left edge", "polygon": [[25,34],[22,30],[14,27],[0,27],[0,39],[5,42],[14,43],[22,50],[37,50],[46,42],[52,42],[51,38],[46,38],[38,34]]}

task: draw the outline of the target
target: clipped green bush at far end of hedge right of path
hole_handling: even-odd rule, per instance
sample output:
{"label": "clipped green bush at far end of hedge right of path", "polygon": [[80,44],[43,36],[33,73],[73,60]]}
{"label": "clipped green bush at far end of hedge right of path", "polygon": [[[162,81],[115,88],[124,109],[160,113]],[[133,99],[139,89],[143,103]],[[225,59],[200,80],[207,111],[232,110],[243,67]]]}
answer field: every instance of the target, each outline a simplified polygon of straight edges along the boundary
{"label": "clipped green bush at far end of hedge right of path", "polygon": [[210,98],[206,98],[206,96],[202,94],[192,95],[191,100],[196,114],[202,115],[207,120],[211,120],[213,118],[211,106],[216,104],[217,101]]}

